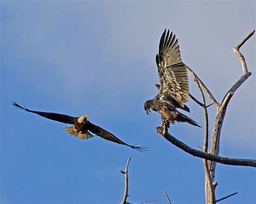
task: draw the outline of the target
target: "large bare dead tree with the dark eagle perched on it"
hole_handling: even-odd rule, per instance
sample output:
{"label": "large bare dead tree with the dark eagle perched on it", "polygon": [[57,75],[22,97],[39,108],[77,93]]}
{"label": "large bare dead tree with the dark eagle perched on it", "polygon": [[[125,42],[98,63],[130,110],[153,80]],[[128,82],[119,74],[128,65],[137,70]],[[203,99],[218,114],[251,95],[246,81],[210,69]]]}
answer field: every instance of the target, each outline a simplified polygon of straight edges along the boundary
{"label": "large bare dead tree with the dark eagle perched on it", "polygon": [[[218,103],[215,100],[214,96],[211,94],[210,90],[204,85],[204,83],[198,78],[198,76],[187,66],[188,72],[193,76],[194,80],[197,82],[203,103],[199,102],[195,99],[192,95],[191,98],[196,101],[204,110],[204,118],[205,118],[205,138],[204,138],[204,147],[202,151],[195,150],[192,147],[180,142],[178,139],[174,138],[170,133],[167,132],[167,126],[165,125],[164,131],[162,135],[172,144],[176,145],[180,149],[186,151],[187,153],[192,154],[193,156],[203,158],[204,168],[205,168],[205,202],[207,204],[215,204],[221,200],[229,198],[232,195],[237,194],[238,192],[232,193],[230,195],[225,196],[221,199],[215,198],[215,187],[218,185],[216,181],[214,181],[215,177],[215,168],[217,163],[228,164],[228,165],[240,165],[240,166],[252,166],[256,167],[256,160],[254,159],[235,159],[235,158],[228,158],[228,157],[221,157],[219,156],[219,149],[220,149],[220,132],[224,122],[224,117],[226,114],[226,109],[228,102],[231,100],[235,90],[237,90],[242,83],[245,82],[246,79],[251,75],[251,72],[248,72],[245,58],[240,53],[239,48],[244,45],[244,43],[253,36],[255,30],[249,32],[247,36],[233,48],[234,53],[237,55],[239,60],[241,61],[242,71],[243,74],[238,79],[238,81],[228,90],[226,95],[224,96],[221,103]],[[215,116],[215,122],[213,125],[212,137],[211,137],[211,150],[208,152],[208,114],[207,114],[207,105],[205,103],[205,96],[204,92],[208,95],[211,99],[212,103],[217,108],[217,114]]]}

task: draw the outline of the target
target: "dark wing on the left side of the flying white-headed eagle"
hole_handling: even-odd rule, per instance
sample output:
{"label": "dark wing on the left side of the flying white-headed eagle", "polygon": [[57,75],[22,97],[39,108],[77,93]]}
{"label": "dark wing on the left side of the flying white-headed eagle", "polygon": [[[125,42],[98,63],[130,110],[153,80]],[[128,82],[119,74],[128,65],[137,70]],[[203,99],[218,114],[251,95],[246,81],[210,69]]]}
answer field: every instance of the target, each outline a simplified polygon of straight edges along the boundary
{"label": "dark wing on the left side of the flying white-headed eagle", "polygon": [[12,101],[12,105],[17,107],[18,109],[22,109],[22,110],[25,110],[28,112],[33,112],[34,114],[37,114],[39,116],[42,116],[42,117],[45,117],[48,119],[52,119],[53,121],[58,121],[61,123],[75,124],[75,119],[77,119],[77,117],[72,117],[72,116],[63,115],[63,114],[56,114],[54,112],[39,112],[39,111],[29,110],[28,108],[25,107],[25,105],[24,105],[24,107],[22,107],[15,101]]}

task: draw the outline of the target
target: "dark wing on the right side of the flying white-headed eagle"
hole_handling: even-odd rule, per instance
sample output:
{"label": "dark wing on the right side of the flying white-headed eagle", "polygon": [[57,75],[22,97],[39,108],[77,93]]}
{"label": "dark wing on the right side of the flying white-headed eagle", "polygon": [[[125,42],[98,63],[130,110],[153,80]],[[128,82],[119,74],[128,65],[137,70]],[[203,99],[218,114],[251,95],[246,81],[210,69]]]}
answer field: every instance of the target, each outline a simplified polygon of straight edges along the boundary
{"label": "dark wing on the right side of the flying white-headed eagle", "polygon": [[102,137],[106,140],[109,140],[109,141],[114,142],[114,143],[130,146],[130,147],[132,147],[132,149],[136,149],[136,150],[141,151],[141,152],[147,151],[146,146],[134,146],[134,145],[126,144],[122,140],[120,140],[116,136],[114,136],[112,133],[104,130],[103,128],[100,128],[99,126],[97,126],[95,124],[90,123],[89,121],[87,123],[87,127],[88,127],[88,130],[90,132],[92,132],[95,135],[97,135],[99,137]]}

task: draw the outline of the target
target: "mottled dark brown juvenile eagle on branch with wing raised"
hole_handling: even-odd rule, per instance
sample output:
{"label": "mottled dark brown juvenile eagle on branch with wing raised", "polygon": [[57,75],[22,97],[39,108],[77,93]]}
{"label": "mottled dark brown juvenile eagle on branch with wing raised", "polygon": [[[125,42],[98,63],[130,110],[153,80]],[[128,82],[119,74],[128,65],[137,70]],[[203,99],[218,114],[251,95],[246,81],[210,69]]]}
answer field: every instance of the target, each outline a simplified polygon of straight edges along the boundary
{"label": "mottled dark brown juvenile eagle on branch with wing raised", "polygon": [[166,34],[165,29],[161,36],[156,62],[160,85],[156,85],[156,97],[144,103],[146,114],[151,112],[150,109],[161,114],[163,122],[158,126],[158,131],[163,130],[164,124],[169,127],[170,123],[174,124],[175,121],[199,126],[193,119],[177,110],[180,108],[190,112],[185,105],[189,95],[188,77],[186,65],[181,61],[178,39],[175,39],[175,35],[172,32],[170,34],[169,30]]}

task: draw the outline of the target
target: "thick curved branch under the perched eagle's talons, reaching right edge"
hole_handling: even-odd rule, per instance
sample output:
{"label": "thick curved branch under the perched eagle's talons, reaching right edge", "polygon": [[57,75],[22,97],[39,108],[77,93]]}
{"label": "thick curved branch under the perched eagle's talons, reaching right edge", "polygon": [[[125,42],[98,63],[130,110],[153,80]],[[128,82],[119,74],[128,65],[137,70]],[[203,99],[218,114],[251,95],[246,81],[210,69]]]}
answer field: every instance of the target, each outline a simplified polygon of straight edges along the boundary
{"label": "thick curved branch under the perched eagle's talons, reaching right edge", "polygon": [[255,159],[236,159],[236,158],[229,158],[229,157],[221,157],[221,156],[217,156],[215,154],[207,153],[207,152],[204,152],[204,151],[195,150],[192,147],[184,144],[180,140],[173,137],[167,131],[165,132],[165,134],[163,134],[163,136],[170,143],[179,147],[181,150],[191,154],[192,156],[200,157],[200,158],[211,160],[211,161],[215,161],[215,162],[221,163],[221,164],[256,167],[256,160]]}

